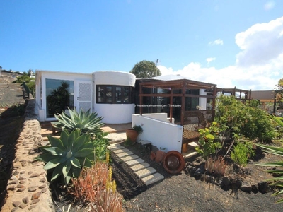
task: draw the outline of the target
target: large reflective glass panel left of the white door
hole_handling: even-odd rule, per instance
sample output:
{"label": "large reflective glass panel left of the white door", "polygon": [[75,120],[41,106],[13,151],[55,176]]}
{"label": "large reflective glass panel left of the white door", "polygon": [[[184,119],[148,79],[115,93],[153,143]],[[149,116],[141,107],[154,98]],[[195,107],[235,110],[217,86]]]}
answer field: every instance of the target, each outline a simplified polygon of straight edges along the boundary
{"label": "large reflective glass panel left of the white door", "polygon": [[74,81],[46,79],[46,117],[74,108]]}

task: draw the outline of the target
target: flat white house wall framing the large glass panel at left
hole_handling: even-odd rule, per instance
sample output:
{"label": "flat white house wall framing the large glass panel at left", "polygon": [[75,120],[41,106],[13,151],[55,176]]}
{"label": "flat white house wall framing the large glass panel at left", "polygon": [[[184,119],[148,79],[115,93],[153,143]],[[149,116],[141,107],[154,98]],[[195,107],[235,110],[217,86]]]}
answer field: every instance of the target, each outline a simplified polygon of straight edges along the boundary
{"label": "flat white house wall framing the large glass panel at left", "polygon": [[[52,121],[55,118],[46,118],[46,83],[45,79],[58,79],[58,80],[68,80],[74,81],[74,90],[76,90],[76,81],[88,81],[92,82],[91,73],[70,73],[70,72],[60,72],[60,71],[41,71],[36,70],[36,112],[40,122],[42,121]],[[42,88],[40,95],[40,86]],[[76,102],[76,94],[74,96],[74,102]]]}

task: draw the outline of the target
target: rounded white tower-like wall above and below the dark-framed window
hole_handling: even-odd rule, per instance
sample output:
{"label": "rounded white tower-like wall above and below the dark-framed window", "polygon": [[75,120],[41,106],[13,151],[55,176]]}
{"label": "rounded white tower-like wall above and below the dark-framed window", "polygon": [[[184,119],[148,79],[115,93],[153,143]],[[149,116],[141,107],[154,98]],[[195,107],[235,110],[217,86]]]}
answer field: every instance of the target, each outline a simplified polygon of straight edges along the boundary
{"label": "rounded white tower-like wall above and below the dark-framed window", "polygon": [[[132,73],[121,71],[96,71],[93,73],[94,95],[96,95],[97,85],[111,86],[131,86],[134,87],[136,76]],[[106,124],[122,124],[132,122],[134,114],[134,103],[132,104],[96,104],[93,98],[93,110],[103,117]]]}

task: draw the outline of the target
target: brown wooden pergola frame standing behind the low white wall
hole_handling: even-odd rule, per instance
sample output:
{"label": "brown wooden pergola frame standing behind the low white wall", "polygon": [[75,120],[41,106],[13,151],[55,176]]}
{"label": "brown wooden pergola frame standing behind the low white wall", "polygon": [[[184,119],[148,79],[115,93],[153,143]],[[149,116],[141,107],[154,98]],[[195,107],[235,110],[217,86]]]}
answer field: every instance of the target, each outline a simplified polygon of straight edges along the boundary
{"label": "brown wooden pergola frame standing behind the low white wall", "polygon": [[[170,90],[170,93],[144,93],[143,88],[161,88]],[[194,95],[187,94],[188,89],[204,89],[209,90],[212,95]],[[174,93],[173,90],[181,90],[179,93]],[[180,114],[180,125],[184,126],[185,123],[185,98],[210,98],[212,99],[212,117],[214,117],[214,108],[215,108],[215,98],[217,94],[217,89],[215,84],[203,83],[200,81],[191,81],[188,79],[178,79],[178,80],[152,80],[144,81],[139,83],[139,103],[143,105],[143,97],[163,97],[170,98],[170,105],[173,106],[173,98],[181,98],[181,114]],[[140,107],[140,114],[142,115],[142,107]],[[169,117],[170,122],[173,118],[173,107],[169,108]]]}

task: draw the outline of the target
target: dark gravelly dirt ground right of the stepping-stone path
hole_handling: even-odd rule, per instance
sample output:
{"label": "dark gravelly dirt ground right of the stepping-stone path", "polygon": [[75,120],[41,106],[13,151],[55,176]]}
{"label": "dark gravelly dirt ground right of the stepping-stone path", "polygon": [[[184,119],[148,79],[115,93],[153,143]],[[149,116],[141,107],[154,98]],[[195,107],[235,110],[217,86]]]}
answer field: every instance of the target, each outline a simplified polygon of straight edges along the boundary
{"label": "dark gravelly dirt ground right of the stepping-stone path", "polygon": [[[189,167],[199,166],[204,160],[193,158],[186,160],[185,170],[179,175],[171,175],[160,163],[149,159],[149,151],[139,145],[127,146],[130,151],[139,155],[165,177],[162,182],[146,187],[134,176],[132,170],[113,156],[113,176],[117,189],[126,199],[126,211],[282,211],[282,204],[275,204],[279,196],[271,196],[272,192],[262,194],[242,192],[240,189],[224,191],[219,185],[204,182],[188,171]],[[272,175],[264,172],[265,167],[254,165],[267,161],[275,161],[275,155],[260,152],[260,157],[250,160],[246,175],[239,175],[247,182],[262,182]],[[230,175],[227,168],[227,175]],[[283,197],[283,196],[281,196]]]}

